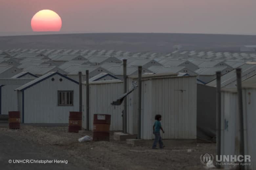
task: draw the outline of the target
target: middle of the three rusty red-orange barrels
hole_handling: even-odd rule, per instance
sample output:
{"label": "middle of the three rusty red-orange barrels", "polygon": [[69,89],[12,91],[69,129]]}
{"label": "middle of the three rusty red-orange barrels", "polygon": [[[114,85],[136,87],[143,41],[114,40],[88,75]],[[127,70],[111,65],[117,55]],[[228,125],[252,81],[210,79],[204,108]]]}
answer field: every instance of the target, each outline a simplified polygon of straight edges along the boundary
{"label": "middle of the three rusty red-orange barrels", "polygon": [[79,130],[82,130],[82,112],[70,111],[69,132],[78,133]]}

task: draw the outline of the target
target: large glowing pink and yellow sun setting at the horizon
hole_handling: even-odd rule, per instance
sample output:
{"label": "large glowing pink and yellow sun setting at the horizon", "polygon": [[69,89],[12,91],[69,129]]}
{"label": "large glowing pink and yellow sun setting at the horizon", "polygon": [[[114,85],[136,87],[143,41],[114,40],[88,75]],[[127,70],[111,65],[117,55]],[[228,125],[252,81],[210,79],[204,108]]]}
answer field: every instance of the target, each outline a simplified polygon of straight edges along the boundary
{"label": "large glowing pink and yellow sun setting at the horizon", "polygon": [[60,31],[61,26],[60,16],[49,9],[40,10],[31,19],[31,27],[35,32]]}

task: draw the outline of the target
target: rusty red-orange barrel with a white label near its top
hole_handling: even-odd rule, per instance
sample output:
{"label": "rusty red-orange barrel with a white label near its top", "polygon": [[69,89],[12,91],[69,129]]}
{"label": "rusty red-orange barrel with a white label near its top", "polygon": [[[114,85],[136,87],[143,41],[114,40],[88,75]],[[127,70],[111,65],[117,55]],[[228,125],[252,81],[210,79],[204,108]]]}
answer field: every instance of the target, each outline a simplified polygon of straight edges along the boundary
{"label": "rusty red-orange barrel with a white label near its top", "polygon": [[94,114],[93,141],[109,141],[111,115]]}

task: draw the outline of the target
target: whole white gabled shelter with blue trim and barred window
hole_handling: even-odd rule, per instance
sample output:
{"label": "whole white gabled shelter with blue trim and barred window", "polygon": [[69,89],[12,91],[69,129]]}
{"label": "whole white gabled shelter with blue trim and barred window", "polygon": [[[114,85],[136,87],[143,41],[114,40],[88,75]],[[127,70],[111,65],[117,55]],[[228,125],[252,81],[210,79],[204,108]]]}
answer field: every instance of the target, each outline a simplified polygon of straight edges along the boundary
{"label": "whole white gabled shelter with blue trim and barred window", "polygon": [[68,123],[79,110],[78,82],[50,72],[16,89],[22,123]]}

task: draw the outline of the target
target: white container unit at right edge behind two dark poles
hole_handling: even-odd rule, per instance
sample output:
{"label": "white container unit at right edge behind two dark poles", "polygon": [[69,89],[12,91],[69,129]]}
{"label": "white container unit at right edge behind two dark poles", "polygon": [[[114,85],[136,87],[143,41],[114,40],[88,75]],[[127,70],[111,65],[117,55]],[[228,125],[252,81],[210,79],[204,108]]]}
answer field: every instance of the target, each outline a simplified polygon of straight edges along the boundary
{"label": "white container unit at right edge behind two dark poles", "polygon": [[[256,168],[256,88],[243,87],[243,116],[245,155],[251,156],[251,165],[246,169]],[[221,155],[240,155],[240,124],[236,89],[222,90],[221,116]],[[230,166],[225,166],[230,168]]]}

